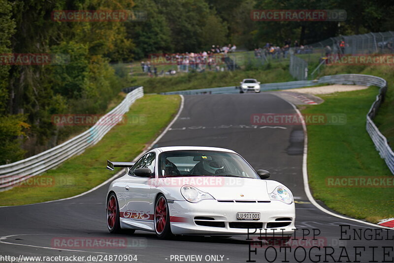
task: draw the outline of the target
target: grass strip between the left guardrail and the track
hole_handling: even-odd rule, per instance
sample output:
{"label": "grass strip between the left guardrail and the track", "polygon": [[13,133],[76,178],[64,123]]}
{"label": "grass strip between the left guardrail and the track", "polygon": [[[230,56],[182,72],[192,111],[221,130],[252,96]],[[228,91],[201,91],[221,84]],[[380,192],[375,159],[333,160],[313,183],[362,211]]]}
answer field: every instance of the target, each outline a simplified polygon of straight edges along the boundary
{"label": "grass strip between the left guardrail and the track", "polygon": [[145,95],[136,100],[126,113],[125,124],[112,128],[83,154],[36,176],[53,179],[54,184],[48,187],[18,186],[0,192],[0,206],[56,200],[92,189],[115,174],[105,169],[107,159],[119,162],[133,160],[171,121],[179,104],[179,96]]}

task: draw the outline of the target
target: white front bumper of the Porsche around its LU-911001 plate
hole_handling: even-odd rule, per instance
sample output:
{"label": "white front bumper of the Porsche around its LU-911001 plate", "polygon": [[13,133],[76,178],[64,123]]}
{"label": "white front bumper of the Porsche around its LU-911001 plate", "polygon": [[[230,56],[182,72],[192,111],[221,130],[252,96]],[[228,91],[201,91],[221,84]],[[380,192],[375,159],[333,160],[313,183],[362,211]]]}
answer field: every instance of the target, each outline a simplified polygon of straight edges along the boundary
{"label": "white front bumper of the Porsche around its LU-911001 plate", "polygon": [[[285,204],[278,200],[271,200],[268,203],[174,201],[168,203],[168,207],[171,215],[171,231],[174,234],[246,235],[250,228],[250,233],[255,229],[263,229],[261,232],[264,235],[278,236],[278,234],[291,235],[295,229],[295,204]],[[239,220],[236,218],[237,212],[260,212],[261,218]],[[283,220],[284,218],[287,220]],[[257,230],[256,234],[259,233],[260,231]]]}

